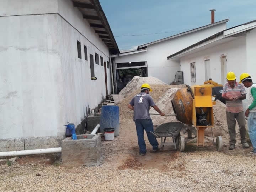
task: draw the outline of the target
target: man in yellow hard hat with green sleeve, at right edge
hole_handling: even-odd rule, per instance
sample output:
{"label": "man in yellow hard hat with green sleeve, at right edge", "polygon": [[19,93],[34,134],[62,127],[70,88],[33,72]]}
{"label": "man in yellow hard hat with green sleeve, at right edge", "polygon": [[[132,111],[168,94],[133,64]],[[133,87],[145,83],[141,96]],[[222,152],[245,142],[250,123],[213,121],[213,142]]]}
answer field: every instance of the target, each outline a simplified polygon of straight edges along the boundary
{"label": "man in yellow hard hat with green sleeve, at right edge", "polygon": [[245,116],[247,117],[248,133],[253,146],[253,150],[250,153],[256,155],[256,84],[252,82],[251,75],[248,73],[242,73],[240,75],[240,82],[246,88],[249,88],[249,107],[245,111]]}

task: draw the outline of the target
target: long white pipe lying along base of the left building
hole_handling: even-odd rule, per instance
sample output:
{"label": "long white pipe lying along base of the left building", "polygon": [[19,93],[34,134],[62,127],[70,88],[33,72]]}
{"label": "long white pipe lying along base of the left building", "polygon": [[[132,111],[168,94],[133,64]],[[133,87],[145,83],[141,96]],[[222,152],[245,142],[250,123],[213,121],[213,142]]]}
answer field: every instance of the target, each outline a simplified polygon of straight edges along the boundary
{"label": "long white pipe lying along base of the left building", "polygon": [[6,152],[0,152],[0,157],[34,155],[34,154],[44,154],[44,153],[60,153],[61,151],[62,151],[61,147],[48,148],[48,149],[32,149],[32,150],[23,150],[23,151],[6,151]]}

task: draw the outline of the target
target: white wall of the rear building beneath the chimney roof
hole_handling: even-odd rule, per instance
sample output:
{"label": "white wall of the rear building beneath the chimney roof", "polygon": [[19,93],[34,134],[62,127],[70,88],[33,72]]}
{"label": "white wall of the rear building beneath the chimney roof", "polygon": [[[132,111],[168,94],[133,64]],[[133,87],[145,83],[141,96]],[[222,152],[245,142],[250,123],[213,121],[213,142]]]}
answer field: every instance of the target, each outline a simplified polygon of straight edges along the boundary
{"label": "white wall of the rear building beneath the chimney roof", "polygon": [[169,84],[174,80],[176,71],[180,70],[179,62],[167,60],[169,55],[225,29],[226,23],[215,25],[204,30],[150,45],[147,47],[147,51],[143,53],[119,56],[115,58],[115,62],[147,61],[148,76],[154,76]]}

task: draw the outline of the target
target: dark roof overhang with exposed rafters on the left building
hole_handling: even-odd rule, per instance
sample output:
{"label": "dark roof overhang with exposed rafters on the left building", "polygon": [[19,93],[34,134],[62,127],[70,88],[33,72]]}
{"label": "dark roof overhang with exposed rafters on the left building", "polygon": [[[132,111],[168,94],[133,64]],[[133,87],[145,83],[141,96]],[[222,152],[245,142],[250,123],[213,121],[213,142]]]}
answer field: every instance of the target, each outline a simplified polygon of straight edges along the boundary
{"label": "dark roof overhang with exposed rafters on the left building", "polygon": [[102,10],[99,0],[72,0],[74,7],[77,7],[83,14],[83,18],[87,19],[90,26],[94,28],[95,33],[99,34],[99,38],[109,48],[111,54],[120,53],[116,39],[107,21],[107,17]]}

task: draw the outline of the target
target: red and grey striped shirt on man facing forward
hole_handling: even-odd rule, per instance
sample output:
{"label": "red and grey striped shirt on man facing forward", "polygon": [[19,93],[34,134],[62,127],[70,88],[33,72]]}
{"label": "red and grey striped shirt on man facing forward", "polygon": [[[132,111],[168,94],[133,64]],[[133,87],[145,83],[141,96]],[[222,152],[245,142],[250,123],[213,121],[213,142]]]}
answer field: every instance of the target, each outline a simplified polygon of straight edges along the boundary
{"label": "red and grey striped shirt on man facing forward", "polygon": [[[236,82],[233,88],[229,86],[228,82],[223,86],[222,97],[234,98],[245,94],[244,85],[238,82]],[[240,113],[244,111],[242,100],[226,101],[226,111],[230,113]]]}

